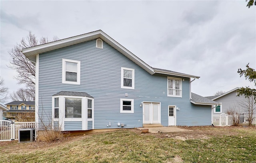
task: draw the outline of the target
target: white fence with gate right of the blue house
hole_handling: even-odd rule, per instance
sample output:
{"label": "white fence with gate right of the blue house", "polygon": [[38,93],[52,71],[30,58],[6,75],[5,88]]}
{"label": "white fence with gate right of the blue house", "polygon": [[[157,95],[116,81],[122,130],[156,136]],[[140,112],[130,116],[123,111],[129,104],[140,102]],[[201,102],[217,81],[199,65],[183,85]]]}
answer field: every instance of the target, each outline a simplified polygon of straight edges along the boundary
{"label": "white fence with gate right of the blue house", "polygon": [[[247,126],[249,124],[249,115],[234,115],[239,125]],[[232,126],[233,116],[228,114],[212,115],[212,124],[214,126]],[[252,116],[252,125],[256,126],[256,115]]]}

